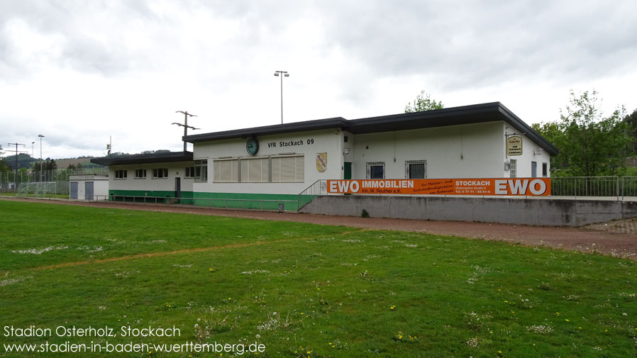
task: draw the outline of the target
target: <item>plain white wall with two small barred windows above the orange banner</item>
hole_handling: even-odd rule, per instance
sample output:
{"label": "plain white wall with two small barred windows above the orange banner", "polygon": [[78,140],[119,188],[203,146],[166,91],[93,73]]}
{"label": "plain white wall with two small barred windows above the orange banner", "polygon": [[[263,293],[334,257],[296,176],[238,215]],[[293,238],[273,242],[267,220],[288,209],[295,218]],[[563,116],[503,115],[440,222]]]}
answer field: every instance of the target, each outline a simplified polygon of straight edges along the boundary
{"label": "plain white wall with two small barred windows above the orange banner", "polygon": [[405,178],[405,161],[426,160],[428,179],[501,177],[501,121],[356,135],[352,179],[365,179],[367,162],[384,162],[385,177]]}

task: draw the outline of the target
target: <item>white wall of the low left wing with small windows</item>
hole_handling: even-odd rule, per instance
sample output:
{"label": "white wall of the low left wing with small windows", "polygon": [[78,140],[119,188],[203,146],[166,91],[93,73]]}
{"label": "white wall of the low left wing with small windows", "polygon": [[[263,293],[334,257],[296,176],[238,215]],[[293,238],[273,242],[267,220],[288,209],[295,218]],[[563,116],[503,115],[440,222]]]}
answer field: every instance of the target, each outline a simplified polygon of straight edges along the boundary
{"label": "white wall of the low left wing with small windows", "polygon": [[[183,191],[192,191],[194,179],[184,178],[186,167],[192,167],[193,162],[172,162],[153,164],[127,164],[109,166],[110,190],[135,190],[135,191],[175,191],[175,178],[181,178]],[[153,169],[167,168],[168,177],[153,179]],[[115,171],[128,170],[126,179],[115,179]],[[135,169],[146,169],[145,179],[135,179]]]}

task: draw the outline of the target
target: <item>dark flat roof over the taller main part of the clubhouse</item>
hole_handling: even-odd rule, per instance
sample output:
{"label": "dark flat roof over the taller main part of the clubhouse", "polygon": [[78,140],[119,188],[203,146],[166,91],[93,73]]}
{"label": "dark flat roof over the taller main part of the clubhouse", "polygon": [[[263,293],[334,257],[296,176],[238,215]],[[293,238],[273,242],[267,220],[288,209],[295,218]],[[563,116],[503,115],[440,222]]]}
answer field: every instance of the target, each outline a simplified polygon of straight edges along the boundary
{"label": "dark flat roof over the taller main part of the clubhouse", "polygon": [[186,142],[209,142],[213,140],[250,138],[259,135],[272,135],[279,133],[294,133],[308,130],[321,130],[340,128],[353,134],[393,132],[396,130],[411,130],[420,128],[444,127],[447,125],[462,125],[472,123],[486,123],[504,121],[537,145],[546,150],[550,155],[557,155],[559,150],[540,133],[533,130],[518,116],[506,108],[500,102],[487,104],[473,104],[451,108],[435,109],[414,113],[399,113],[389,116],[358,118],[346,120],[342,117],[318,119],[285,123],[278,125],[266,125],[263,127],[245,128],[238,130],[225,130],[223,132],[203,133],[187,135],[183,137]]}

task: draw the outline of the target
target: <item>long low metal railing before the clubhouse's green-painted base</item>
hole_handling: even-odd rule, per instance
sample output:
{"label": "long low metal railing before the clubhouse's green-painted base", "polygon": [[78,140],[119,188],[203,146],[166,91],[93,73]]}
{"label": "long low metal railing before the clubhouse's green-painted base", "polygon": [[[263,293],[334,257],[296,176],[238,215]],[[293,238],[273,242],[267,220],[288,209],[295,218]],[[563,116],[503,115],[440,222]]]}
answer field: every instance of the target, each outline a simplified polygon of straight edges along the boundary
{"label": "long low metal railing before the clubhouse's green-painted base", "polygon": [[204,208],[251,209],[260,211],[297,211],[298,201],[238,198],[176,198],[173,196],[94,195],[92,202],[130,205],[196,206]]}

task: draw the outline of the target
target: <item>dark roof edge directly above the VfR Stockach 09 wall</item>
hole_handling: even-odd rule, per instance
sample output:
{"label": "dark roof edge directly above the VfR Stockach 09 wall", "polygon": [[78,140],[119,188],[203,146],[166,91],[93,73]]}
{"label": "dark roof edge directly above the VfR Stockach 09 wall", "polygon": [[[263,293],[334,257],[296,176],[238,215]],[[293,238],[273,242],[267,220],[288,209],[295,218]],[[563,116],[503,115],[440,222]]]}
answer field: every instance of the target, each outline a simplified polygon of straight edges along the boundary
{"label": "dark roof edge directly above the VfR Stockach 09 wall", "polygon": [[342,117],[317,119],[314,121],[294,122],[277,125],[265,125],[263,127],[245,128],[238,130],[226,130],[223,132],[203,133],[182,137],[190,143],[208,142],[210,140],[223,140],[233,138],[251,138],[259,135],[273,135],[280,133],[305,132],[309,130],[321,130],[330,128],[346,128],[348,121]]}

